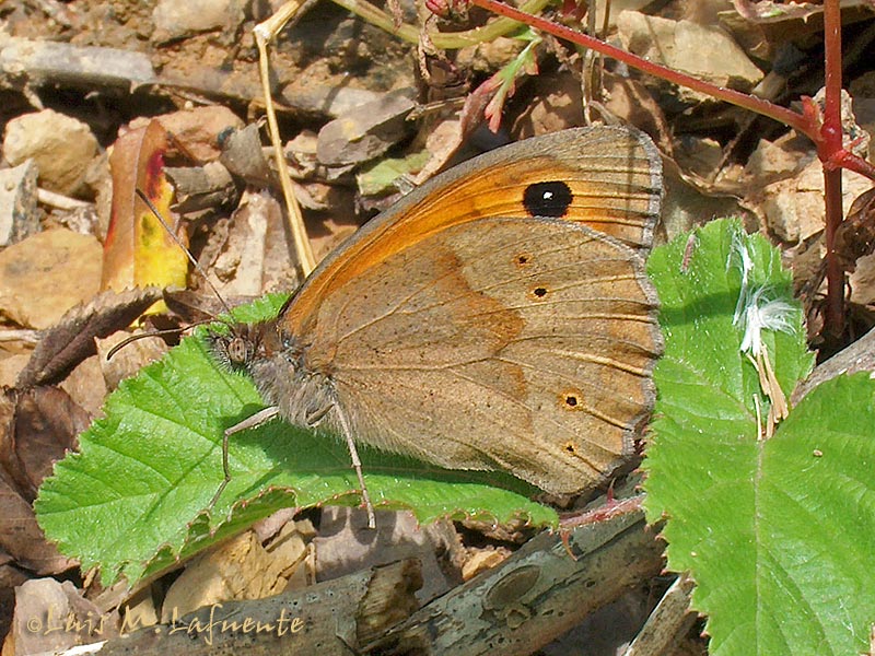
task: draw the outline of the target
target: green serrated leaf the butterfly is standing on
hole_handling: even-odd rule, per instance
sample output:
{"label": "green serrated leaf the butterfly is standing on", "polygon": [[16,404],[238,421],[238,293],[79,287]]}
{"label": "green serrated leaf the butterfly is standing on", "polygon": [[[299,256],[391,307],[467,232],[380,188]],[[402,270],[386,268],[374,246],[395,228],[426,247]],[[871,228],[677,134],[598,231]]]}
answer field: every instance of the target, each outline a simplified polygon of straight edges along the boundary
{"label": "green serrated leaf the butterfly is standing on", "polygon": [[[238,308],[238,320],[276,315],[282,296]],[[232,480],[223,479],[224,429],[265,407],[252,380],[222,371],[203,330],[113,393],[80,436],[80,453],[58,462],[35,506],[61,552],[100,566],[108,585],[132,584],[290,505],[358,505],[358,479],[343,442],[273,421],[230,440]],[[557,523],[529,501],[534,490],[500,472],[447,471],[360,447],[377,509],[410,508],[422,522],[476,517]],[[234,500],[237,500],[236,502]]]}

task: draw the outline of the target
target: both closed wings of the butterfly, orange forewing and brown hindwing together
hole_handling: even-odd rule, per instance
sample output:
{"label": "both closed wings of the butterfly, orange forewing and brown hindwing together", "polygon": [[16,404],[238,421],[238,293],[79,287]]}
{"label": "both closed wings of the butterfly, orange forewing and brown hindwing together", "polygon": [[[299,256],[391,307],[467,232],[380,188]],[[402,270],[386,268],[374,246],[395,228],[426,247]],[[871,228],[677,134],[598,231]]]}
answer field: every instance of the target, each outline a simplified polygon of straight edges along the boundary
{"label": "both closed wings of the butterfly, orange forewing and brown hindwing together", "polygon": [[661,186],[653,144],[623,128],[481,155],[326,258],[280,329],[357,440],[586,489],[652,408],[661,338],[642,257]]}

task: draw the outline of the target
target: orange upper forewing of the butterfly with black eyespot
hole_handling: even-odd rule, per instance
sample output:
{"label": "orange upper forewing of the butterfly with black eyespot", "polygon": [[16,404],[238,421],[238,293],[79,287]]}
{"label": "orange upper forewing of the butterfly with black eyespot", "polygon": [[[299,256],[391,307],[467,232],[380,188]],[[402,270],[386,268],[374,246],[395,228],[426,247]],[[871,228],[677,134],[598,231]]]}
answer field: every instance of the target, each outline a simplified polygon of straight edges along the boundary
{"label": "orange upper forewing of the butterfly with black eyespot", "polygon": [[619,127],[562,130],[475,157],[404,197],[323,260],[284,312],[284,326],[308,332],[323,300],[346,293],[369,268],[452,225],[490,216],[561,218],[648,251],[661,172],[653,142]]}

